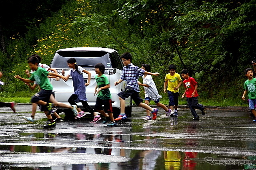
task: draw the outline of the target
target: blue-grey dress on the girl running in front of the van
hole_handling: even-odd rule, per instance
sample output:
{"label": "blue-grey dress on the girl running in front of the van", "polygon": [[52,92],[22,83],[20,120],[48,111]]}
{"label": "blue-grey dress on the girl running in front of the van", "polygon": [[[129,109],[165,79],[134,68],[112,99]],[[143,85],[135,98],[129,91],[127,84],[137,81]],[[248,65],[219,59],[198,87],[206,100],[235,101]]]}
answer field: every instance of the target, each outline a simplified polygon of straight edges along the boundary
{"label": "blue-grey dress on the girl running in front of the van", "polygon": [[[79,71],[82,72],[84,68],[78,66]],[[73,80],[73,86],[74,86],[74,93],[78,97],[78,100],[87,101],[86,95],[85,95],[85,85],[84,85],[84,77],[83,74],[80,74],[76,71],[76,69],[70,70],[70,76],[72,76]],[[78,102],[79,102],[78,101]]]}

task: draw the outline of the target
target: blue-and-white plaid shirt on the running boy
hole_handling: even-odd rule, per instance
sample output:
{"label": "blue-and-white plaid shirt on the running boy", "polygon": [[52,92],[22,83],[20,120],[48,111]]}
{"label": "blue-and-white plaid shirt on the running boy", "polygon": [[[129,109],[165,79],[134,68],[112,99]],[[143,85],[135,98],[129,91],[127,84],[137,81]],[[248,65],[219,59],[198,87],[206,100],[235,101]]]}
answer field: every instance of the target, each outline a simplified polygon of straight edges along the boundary
{"label": "blue-and-white plaid shirt on the running boy", "polygon": [[138,79],[140,76],[144,75],[145,70],[139,68],[138,66],[134,66],[132,63],[124,66],[120,79],[126,80],[127,86],[131,87],[132,90],[136,92],[140,92]]}

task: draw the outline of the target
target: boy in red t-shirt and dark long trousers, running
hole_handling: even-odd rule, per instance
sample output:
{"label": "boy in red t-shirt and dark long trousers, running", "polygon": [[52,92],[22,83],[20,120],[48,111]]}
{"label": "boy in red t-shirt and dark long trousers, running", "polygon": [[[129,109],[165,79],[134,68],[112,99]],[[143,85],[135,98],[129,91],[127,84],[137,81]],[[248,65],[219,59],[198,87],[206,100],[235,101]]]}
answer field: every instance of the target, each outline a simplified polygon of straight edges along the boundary
{"label": "boy in red t-shirt and dark long trousers, running", "polygon": [[205,115],[205,106],[198,103],[197,82],[193,77],[190,77],[188,75],[187,69],[183,69],[181,71],[181,76],[182,78],[184,78],[183,84],[184,87],[186,88],[181,98],[184,98],[186,95],[188,107],[190,108],[191,113],[194,116],[193,120],[199,120],[199,116],[196,114],[195,109],[201,110],[202,115]]}

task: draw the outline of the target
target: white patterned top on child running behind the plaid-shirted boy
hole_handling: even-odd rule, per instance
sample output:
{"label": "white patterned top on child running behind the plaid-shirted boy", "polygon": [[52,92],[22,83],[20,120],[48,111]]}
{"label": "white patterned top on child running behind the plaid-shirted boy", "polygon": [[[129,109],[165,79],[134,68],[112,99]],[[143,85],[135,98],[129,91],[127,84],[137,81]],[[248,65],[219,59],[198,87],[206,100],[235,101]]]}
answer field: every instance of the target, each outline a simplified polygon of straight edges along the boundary
{"label": "white patterned top on child running behind the plaid-shirted boy", "polygon": [[147,75],[146,77],[142,76],[143,79],[143,84],[147,84],[149,87],[144,86],[145,90],[145,98],[149,97],[151,100],[156,101],[158,100],[161,96],[159,96],[156,84],[154,83],[152,76]]}

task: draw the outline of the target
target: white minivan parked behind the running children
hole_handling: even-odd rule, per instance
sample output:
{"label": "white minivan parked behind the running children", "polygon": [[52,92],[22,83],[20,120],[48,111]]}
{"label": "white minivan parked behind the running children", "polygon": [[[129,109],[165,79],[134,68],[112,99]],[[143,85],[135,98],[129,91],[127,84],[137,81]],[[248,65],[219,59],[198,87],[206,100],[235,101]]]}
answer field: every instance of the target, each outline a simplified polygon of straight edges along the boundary
{"label": "white minivan parked behind the running children", "polygon": [[[56,51],[52,63],[50,64],[51,68],[54,68],[58,71],[58,74],[61,74],[61,71],[65,71],[65,76],[67,75],[68,67],[67,60],[69,58],[75,58],[78,66],[82,66],[84,69],[88,70],[91,75],[90,85],[86,86],[86,98],[88,99],[88,104],[92,108],[95,108],[96,104],[96,95],[94,95],[94,89],[97,85],[94,71],[94,65],[96,63],[102,63],[105,65],[105,73],[109,78],[110,82],[110,93],[112,95],[112,106],[113,106],[113,115],[117,117],[120,113],[120,100],[118,93],[121,92],[126,86],[126,82],[114,85],[115,81],[118,81],[120,74],[122,72],[123,63],[120,59],[120,56],[114,49],[100,48],[100,47],[74,47],[59,49]],[[84,82],[88,80],[88,74],[83,73]],[[74,86],[72,82],[72,77],[69,77],[68,81],[60,79],[56,81],[55,78],[51,78],[50,82],[53,86],[53,91],[55,92],[55,98],[58,102],[68,104],[68,98],[74,92]],[[83,110],[82,104],[79,102],[77,105]],[[86,111],[86,110],[84,110]],[[68,114],[68,109],[58,108],[57,113],[64,112]],[[126,99],[126,108],[125,112],[127,116],[131,115],[132,112],[132,100],[131,98]]]}

